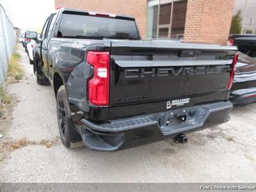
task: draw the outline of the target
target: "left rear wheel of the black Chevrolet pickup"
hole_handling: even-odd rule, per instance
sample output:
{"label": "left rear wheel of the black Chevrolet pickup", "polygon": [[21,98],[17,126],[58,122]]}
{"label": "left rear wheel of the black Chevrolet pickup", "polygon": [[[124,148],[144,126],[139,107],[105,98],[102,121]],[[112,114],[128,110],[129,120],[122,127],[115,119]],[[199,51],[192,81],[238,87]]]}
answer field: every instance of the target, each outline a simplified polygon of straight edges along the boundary
{"label": "left rear wheel of the black Chevrolet pickup", "polygon": [[65,145],[65,147],[67,148],[81,147],[83,145],[81,142],[82,138],[74,128],[74,124],[70,115],[67,93],[64,85],[60,86],[57,92],[56,106],[58,127],[63,145]]}

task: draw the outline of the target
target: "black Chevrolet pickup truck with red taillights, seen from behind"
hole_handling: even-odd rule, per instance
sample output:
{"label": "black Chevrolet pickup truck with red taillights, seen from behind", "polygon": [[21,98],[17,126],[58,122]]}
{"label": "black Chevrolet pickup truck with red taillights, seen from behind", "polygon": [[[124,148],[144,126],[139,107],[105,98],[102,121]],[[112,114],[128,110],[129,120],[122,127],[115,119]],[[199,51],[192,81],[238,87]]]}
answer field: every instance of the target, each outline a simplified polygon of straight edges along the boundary
{"label": "black Chevrolet pickup truck with red taillights, seen from behind", "polygon": [[54,88],[68,148],[184,143],[229,120],[236,47],[142,41],[133,17],[67,8],[49,16],[38,41],[37,83]]}

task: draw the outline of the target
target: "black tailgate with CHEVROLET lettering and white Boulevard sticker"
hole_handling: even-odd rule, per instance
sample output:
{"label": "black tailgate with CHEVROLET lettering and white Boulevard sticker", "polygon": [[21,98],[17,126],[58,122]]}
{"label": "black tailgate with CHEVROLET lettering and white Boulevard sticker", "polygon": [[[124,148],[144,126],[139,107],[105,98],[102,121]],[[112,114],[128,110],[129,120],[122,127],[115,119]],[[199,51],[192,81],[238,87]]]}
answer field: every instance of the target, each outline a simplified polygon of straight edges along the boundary
{"label": "black tailgate with CHEVROLET lettering and white Boulevard sticker", "polygon": [[112,42],[109,118],[227,99],[234,54],[218,45]]}

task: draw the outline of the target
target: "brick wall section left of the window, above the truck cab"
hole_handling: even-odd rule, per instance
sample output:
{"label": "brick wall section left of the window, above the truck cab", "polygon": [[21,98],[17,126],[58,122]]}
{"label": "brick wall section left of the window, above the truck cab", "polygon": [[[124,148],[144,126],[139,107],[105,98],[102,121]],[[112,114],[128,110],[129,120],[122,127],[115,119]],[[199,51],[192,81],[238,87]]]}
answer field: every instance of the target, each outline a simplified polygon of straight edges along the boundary
{"label": "brick wall section left of the window, above the truck cab", "polygon": [[141,37],[147,34],[147,0],[55,0],[55,7],[122,13],[135,17]]}

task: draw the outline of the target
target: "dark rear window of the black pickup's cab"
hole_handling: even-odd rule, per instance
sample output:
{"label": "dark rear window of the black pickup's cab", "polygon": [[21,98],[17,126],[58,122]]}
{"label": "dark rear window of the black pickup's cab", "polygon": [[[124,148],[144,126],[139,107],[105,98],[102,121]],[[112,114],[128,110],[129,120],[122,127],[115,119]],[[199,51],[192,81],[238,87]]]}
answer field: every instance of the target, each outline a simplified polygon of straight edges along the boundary
{"label": "dark rear window of the black pickup's cab", "polygon": [[138,40],[134,20],[63,14],[57,37]]}

